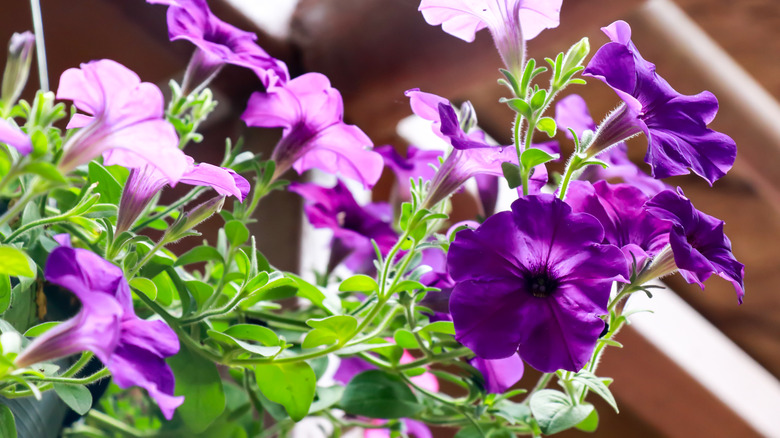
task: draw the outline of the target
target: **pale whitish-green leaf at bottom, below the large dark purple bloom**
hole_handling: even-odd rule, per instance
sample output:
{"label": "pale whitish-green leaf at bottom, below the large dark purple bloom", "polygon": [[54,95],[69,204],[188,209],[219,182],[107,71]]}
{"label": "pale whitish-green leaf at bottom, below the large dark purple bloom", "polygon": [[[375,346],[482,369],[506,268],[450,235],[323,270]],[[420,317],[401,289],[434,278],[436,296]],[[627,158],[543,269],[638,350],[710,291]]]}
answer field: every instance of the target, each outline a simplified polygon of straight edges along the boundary
{"label": "pale whitish-green leaf at bottom, below the large dark purple bloom", "polygon": [[593,410],[592,405],[571,404],[566,394],[543,389],[531,397],[531,412],[545,435],[552,435],[580,424]]}

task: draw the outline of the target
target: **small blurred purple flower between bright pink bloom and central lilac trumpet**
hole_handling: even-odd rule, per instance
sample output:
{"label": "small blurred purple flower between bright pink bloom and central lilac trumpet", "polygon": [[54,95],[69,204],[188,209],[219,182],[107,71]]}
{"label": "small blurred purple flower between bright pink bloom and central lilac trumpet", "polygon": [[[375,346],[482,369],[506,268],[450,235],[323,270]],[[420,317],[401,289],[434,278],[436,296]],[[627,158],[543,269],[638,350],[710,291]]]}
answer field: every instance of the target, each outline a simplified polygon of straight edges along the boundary
{"label": "small blurred purple flower between bright pink bloom and central lilac trumpet", "polygon": [[429,181],[436,173],[431,165],[438,165],[439,157],[444,155],[441,151],[417,149],[411,145],[406,150],[406,158],[391,145],[375,147],[374,151],[382,156],[385,166],[395,173],[398,194],[402,200],[409,200],[411,197],[412,186],[409,180],[422,178],[423,181]]}

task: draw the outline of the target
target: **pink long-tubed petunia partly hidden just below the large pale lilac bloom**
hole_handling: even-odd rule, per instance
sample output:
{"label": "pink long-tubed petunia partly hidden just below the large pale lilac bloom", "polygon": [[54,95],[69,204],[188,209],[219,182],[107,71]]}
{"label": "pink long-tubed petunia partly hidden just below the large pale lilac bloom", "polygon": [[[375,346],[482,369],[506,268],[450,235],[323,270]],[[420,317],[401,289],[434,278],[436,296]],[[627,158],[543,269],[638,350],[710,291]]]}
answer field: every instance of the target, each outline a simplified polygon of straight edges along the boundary
{"label": "pink long-tubed petunia partly hidden just below the large pale lilac bloom", "polygon": [[[187,159],[189,169],[179,180],[180,183],[211,187],[222,196],[233,195],[244,202],[250,186],[243,176],[231,169],[208,163],[193,164],[191,157]],[[116,233],[129,230],[149,201],[167,184],[165,176],[150,165],[130,171],[119,201]]]}

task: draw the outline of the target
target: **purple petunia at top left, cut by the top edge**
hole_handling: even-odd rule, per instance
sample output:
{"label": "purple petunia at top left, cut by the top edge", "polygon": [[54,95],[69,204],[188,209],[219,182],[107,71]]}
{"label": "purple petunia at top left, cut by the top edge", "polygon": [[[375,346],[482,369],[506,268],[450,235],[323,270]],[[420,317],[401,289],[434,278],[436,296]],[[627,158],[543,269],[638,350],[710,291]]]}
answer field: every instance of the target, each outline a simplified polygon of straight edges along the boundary
{"label": "purple petunia at top left, cut by the top edge", "polygon": [[225,64],[252,70],[266,88],[290,80],[284,62],[257,45],[257,35],[217,18],[205,0],[147,0],[147,3],[168,5],[171,41],[187,40],[197,47],[187,66],[185,90],[207,83]]}

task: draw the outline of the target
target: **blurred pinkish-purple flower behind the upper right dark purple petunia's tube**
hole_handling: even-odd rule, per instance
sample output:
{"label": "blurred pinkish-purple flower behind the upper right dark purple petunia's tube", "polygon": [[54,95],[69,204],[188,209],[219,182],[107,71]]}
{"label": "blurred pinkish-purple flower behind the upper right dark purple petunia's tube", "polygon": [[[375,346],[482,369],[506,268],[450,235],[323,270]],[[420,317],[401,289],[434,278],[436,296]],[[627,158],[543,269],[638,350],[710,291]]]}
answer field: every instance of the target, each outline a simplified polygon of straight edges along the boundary
{"label": "blurred pinkish-purple flower behind the upper right dark purple petunia's tube", "polygon": [[[569,138],[574,137],[567,128],[573,129],[579,137],[582,137],[586,130],[596,130],[596,124],[593,123],[585,99],[577,94],[566,96],[555,104],[555,121],[558,126],[566,129],[564,132]],[[582,172],[580,179],[595,183],[599,180],[620,178],[648,196],[669,188],[663,181],[646,174],[628,159],[628,146],[624,142],[610,146],[600,153],[598,158],[606,162],[609,167],[604,169],[601,166],[589,166]]]}

